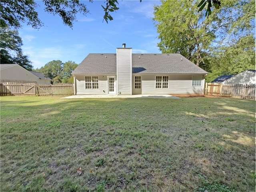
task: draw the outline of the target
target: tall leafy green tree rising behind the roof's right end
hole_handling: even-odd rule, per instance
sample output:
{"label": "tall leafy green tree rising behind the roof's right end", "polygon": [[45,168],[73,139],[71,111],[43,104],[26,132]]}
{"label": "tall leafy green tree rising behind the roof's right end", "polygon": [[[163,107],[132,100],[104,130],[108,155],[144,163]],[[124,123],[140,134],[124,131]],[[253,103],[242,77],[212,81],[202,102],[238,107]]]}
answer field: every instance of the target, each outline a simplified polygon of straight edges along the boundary
{"label": "tall leafy green tree rising behind the roof's right end", "polygon": [[159,49],[162,53],[180,53],[197,66],[205,65],[204,57],[215,38],[211,28],[213,19],[203,20],[195,5],[189,1],[162,1],[154,8],[155,26],[159,33]]}

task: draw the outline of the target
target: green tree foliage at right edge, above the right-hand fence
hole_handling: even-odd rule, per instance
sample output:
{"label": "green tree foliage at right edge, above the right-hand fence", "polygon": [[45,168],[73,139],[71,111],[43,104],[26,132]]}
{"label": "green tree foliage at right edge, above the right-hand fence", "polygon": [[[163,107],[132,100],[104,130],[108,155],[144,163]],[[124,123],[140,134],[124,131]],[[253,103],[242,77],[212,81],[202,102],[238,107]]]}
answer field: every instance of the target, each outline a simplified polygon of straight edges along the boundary
{"label": "green tree foliage at right edge, above the right-hand fence", "polygon": [[212,51],[214,58],[211,73],[206,76],[207,82],[223,74],[255,69],[255,1],[235,2],[222,12],[228,12],[233,20],[223,32],[226,36]]}

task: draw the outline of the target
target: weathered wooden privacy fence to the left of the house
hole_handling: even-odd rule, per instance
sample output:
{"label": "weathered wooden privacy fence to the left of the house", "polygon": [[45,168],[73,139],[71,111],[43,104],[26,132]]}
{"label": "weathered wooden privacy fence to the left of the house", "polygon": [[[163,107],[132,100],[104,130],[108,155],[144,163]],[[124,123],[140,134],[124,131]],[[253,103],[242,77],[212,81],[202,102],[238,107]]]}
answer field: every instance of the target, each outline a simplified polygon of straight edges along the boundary
{"label": "weathered wooden privacy fence to the left of the house", "polygon": [[47,95],[72,95],[74,94],[73,84],[36,84],[23,82],[1,82],[0,95],[30,95],[30,96],[47,96]]}

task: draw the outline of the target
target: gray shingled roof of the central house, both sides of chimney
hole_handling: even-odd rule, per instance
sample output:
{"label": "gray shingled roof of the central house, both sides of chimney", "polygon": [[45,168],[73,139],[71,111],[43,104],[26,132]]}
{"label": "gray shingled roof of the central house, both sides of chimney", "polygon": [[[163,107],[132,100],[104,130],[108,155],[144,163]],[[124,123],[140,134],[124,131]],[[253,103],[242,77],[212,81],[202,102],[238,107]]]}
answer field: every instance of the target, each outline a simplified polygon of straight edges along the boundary
{"label": "gray shingled roof of the central house, both sides of chimney", "polygon": [[[132,54],[133,73],[208,74],[181,54]],[[116,74],[116,54],[89,54],[72,74]]]}

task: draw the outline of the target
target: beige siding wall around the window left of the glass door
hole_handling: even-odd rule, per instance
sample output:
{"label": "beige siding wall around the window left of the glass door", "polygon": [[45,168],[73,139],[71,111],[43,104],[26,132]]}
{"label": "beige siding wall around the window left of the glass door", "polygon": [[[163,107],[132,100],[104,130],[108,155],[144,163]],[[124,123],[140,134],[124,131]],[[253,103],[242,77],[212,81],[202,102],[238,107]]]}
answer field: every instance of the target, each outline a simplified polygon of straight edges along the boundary
{"label": "beige siding wall around the window left of the glass door", "polygon": [[[108,92],[108,80],[107,75],[102,74],[84,74],[76,76],[76,94],[77,95],[96,95],[96,94],[107,94]],[[85,76],[98,76],[99,88],[98,89],[85,89]],[[104,91],[105,92],[104,92]]]}

